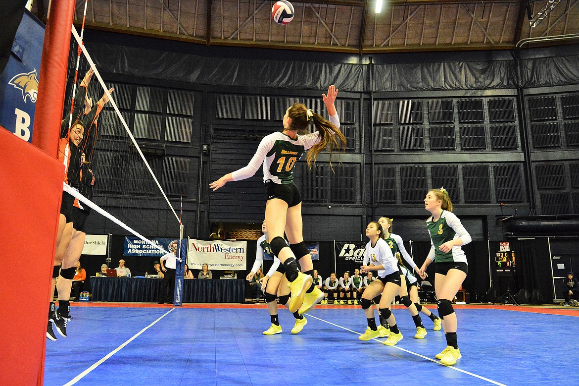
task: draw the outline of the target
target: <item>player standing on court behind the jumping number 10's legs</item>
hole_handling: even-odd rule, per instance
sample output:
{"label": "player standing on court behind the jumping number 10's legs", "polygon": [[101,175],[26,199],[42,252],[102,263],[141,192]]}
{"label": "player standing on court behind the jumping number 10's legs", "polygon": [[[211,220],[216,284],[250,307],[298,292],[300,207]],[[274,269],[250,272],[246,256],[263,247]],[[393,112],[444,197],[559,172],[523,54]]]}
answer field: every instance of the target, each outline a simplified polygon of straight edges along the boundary
{"label": "player standing on court behind the jumping number 10's legs", "polygon": [[[277,315],[277,299],[280,300],[280,304],[287,307],[288,301],[290,301],[290,289],[287,286],[287,279],[284,276],[283,265],[280,265],[280,259],[278,259],[272,252],[269,246],[269,240],[267,235],[267,227],[265,221],[261,224],[261,230],[263,235],[258,239],[256,251],[255,251],[255,262],[251,271],[247,274],[247,281],[251,281],[254,272],[263,263],[263,256],[267,254],[270,258],[273,258],[272,267],[269,268],[267,274],[261,279],[262,288],[265,289],[265,301],[267,303],[267,309],[269,310],[269,316],[272,321],[272,325],[269,329],[263,332],[263,335],[274,335],[282,332],[280,326],[280,319]],[[292,334],[297,334],[301,332],[303,326],[306,325],[307,319],[305,316],[298,314],[298,312],[293,312],[295,317],[295,325],[291,330]]]}

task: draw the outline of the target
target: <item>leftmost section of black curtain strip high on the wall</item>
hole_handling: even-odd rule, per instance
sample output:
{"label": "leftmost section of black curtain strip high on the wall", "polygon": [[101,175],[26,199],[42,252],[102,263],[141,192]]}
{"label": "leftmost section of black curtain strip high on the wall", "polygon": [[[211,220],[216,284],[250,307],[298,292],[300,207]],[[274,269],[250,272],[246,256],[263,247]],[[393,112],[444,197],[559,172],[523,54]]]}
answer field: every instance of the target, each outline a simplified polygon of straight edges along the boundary
{"label": "leftmost section of black curtain strip high on the wall", "polygon": [[369,87],[365,65],[231,59],[164,52],[105,43],[90,44],[96,65],[112,74],[200,85],[324,89],[329,84],[362,92]]}

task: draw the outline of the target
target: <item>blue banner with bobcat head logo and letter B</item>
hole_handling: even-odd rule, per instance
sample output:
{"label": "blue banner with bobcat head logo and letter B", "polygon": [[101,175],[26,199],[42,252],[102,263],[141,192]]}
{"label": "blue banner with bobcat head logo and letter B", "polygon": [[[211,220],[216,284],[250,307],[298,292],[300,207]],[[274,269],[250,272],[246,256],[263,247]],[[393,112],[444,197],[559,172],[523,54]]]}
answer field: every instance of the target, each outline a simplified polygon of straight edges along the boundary
{"label": "blue banner with bobcat head logo and letter B", "polygon": [[0,126],[28,142],[32,142],[44,28],[32,13],[24,12],[0,74]]}

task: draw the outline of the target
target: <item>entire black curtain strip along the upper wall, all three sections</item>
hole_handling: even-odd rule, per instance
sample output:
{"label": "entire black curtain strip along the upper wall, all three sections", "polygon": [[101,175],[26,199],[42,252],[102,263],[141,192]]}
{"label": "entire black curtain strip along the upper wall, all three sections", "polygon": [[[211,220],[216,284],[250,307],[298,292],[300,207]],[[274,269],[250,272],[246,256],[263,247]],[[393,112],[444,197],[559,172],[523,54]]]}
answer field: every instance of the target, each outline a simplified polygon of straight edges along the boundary
{"label": "entire black curtain strip along the upper wall, all three sections", "polygon": [[[440,63],[377,64],[373,67],[373,84],[369,85],[366,64],[207,57],[94,42],[87,42],[87,47],[97,67],[107,68],[111,74],[199,85],[324,89],[335,83],[350,92],[516,87],[514,60],[452,61],[449,53],[439,55]],[[541,53],[533,50],[536,52]],[[523,86],[536,88],[578,83],[579,56],[563,54],[523,59]],[[275,56],[272,54],[272,57]],[[485,54],[481,53],[481,57]]]}

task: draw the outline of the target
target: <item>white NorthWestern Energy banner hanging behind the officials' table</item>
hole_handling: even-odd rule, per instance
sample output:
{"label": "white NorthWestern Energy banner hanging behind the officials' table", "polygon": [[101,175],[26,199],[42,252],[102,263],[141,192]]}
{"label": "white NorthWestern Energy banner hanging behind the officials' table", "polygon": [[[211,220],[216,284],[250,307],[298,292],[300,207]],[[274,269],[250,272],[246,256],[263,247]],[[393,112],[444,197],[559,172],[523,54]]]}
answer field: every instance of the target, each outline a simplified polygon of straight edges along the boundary
{"label": "white NorthWestern Energy banner hanging behind the officials' table", "polygon": [[201,241],[189,239],[187,247],[189,269],[200,270],[203,264],[209,269],[244,271],[247,265],[247,241]]}

